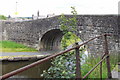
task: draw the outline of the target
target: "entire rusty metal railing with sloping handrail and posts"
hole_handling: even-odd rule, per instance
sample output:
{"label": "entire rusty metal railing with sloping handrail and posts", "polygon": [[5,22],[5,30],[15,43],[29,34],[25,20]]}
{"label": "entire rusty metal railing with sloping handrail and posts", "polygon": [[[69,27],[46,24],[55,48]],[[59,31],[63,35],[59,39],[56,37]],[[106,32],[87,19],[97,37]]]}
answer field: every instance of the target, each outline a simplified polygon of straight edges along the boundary
{"label": "entire rusty metal railing with sloping handrail and posts", "polygon": [[[104,38],[105,38],[105,40],[104,40],[104,42],[105,42],[105,53],[103,54],[102,59],[101,59],[84,77],[82,77],[82,75],[81,75],[80,58],[79,58],[79,55],[80,55],[80,53],[79,53],[79,48],[80,48],[81,46],[87,44],[88,42],[90,42],[90,41],[92,41],[92,40],[94,40],[94,39],[96,39],[96,38],[103,37],[103,36],[104,36]],[[7,79],[7,78],[9,78],[9,77],[11,77],[11,76],[13,76],[13,75],[16,75],[16,74],[18,74],[18,73],[21,73],[21,72],[23,72],[23,71],[25,71],[25,70],[28,70],[28,69],[30,69],[30,68],[38,65],[38,64],[42,64],[43,62],[46,62],[46,61],[48,61],[48,60],[50,60],[50,59],[52,59],[52,58],[55,58],[56,56],[59,56],[59,55],[61,55],[61,54],[64,54],[64,53],[69,52],[69,51],[74,50],[74,49],[75,49],[75,53],[76,53],[76,78],[77,78],[77,79],[83,80],[83,79],[87,78],[87,76],[88,76],[98,65],[100,65],[100,77],[101,77],[101,79],[102,79],[102,62],[103,62],[105,59],[106,59],[106,64],[107,64],[108,78],[111,79],[111,78],[112,78],[112,75],[111,75],[111,69],[110,69],[110,60],[109,60],[109,51],[108,51],[107,36],[111,36],[111,35],[110,35],[110,34],[103,34],[103,35],[100,35],[100,36],[91,38],[91,39],[83,42],[83,43],[80,44],[80,45],[78,45],[78,44],[76,43],[76,46],[73,47],[73,48],[70,48],[70,49],[67,49],[67,50],[65,50],[65,51],[59,52],[59,53],[57,53],[57,54],[51,55],[51,56],[46,57],[46,58],[44,58],[44,59],[42,59],[42,60],[38,60],[38,61],[36,61],[36,62],[34,62],[34,63],[32,63],[32,64],[29,64],[29,65],[27,65],[27,66],[24,66],[24,67],[22,67],[22,68],[19,68],[19,69],[17,69],[17,70],[14,70],[14,71],[12,71],[12,72],[7,73],[7,74],[4,74],[3,76],[0,76],[0,79],[2,79],[2,80]]]}

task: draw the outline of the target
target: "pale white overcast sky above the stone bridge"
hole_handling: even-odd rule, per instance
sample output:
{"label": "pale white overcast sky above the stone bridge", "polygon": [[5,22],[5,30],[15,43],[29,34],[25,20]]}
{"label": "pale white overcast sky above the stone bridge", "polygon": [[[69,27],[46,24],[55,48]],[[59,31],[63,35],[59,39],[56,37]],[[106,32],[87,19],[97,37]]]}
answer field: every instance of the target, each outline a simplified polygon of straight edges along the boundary
{"label": "pale white overcast sky above the stone bridge", "polygon": [[78,14],[117,14],[119,0],[1,0],[0,14],[15,16],[17,2],[17,16],[61,13],[70,14],[71,6],[75,6]]}

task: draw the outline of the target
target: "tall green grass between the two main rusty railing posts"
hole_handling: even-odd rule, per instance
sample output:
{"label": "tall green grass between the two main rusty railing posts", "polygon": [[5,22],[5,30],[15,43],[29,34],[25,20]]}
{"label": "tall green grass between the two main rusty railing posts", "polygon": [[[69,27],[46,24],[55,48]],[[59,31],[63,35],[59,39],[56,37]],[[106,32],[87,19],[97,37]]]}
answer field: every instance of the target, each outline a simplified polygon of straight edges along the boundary
{"label": "tall green grass between the two main rusty railing posts", "polygon": [[[100,59],[100,57],[93,57],[92,55],[86,57],[85,63],[82,64],[82,77],[85,76],[100,61]],[[100,78],[100,65],[87,78]],[[105,61],[102,62],[102,78],[107,78]]]}

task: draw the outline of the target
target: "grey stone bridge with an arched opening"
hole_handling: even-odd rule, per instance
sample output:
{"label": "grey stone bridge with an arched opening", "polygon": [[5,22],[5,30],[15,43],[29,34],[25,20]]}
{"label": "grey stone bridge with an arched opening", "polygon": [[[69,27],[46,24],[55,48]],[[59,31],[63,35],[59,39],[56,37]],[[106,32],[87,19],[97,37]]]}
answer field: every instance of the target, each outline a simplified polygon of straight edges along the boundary
{"label": "grey stone bridge with an arched opening", "polygon": [[[72,15],[65,16],[72,17]],[[63,36],[58,17],[60,16],[22,22],[2,21],[0,24],[2,39],[16,41],[38,50],[58,50]],[[109,49],[115,53],[119,51],[120,29],[117,15],[77,15],[77,20],[77,34],[82,41],[110,33],[113,36],[108,37]],[[91,53],[103,51],[101,39],[95,39],[87,44],[88,51]]]}

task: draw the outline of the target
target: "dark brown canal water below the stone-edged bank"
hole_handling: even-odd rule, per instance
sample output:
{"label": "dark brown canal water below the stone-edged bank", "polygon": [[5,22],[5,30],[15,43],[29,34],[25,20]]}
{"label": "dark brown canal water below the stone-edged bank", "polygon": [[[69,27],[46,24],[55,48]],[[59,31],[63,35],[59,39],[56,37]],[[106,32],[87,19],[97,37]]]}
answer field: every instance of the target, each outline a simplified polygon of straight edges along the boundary
{"label": "dark brown canal water below the stone-edged bank", "polygon": [[[4,61],[0,63],[0,66],[2,65],[2,75],[8,72],[11,72],[13,70],[16,70],[18,68],[21,68],[25,65],[28,65],[32,62],[35,62],[35,61],[18,61],[18,62]],[[47,61],[31,69],[28,69],[24,72],[21,72],[17,75],[14,75],[11,78],[42,78],[41,74],[43,73],[43,70],[47,70],[50,66],[51,66],[51,61]]]}

